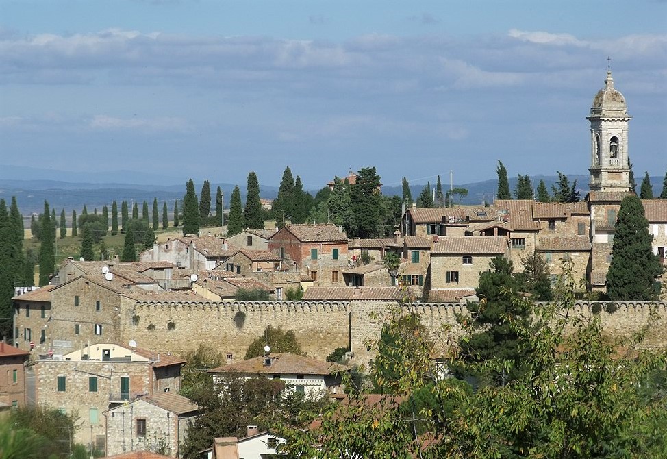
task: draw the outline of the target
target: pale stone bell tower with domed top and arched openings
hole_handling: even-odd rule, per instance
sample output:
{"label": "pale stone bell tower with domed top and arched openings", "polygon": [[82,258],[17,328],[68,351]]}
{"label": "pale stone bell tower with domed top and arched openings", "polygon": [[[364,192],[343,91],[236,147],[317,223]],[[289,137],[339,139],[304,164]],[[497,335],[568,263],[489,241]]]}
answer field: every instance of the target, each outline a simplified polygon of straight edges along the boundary
{"label": "pale stone bell tower with domed top and arched openings", "polygon": [[614,89],[611,69],[605,87],[598,91],[590,108],[591,191],[630,190],[628,162],[628,121],[625,97]]}

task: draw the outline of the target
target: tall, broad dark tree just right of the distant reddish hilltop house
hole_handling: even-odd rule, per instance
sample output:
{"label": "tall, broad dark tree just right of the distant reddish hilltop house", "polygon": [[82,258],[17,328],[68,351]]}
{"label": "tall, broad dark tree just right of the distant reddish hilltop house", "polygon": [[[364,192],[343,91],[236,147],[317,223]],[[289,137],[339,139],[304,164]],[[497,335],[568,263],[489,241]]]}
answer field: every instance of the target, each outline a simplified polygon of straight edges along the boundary
{"label": "tall, broad dark tree just right of the distant reddish hilltop house", "polygon": [[351,187],[355,225],[350,237],[370,239],[381,234],[377,222],[381,220],[383,206],[380,198],[380,176],[375,167],[364,167]]}

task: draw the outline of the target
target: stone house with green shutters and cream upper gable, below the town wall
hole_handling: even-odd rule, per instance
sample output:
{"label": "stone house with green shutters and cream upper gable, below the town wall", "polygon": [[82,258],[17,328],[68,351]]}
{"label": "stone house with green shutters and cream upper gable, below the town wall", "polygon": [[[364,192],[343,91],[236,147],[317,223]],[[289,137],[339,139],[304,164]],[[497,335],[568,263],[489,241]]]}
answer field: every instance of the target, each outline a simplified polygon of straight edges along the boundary
{"label": "stone house with green shutters and cream upper gable, below the town wall", "polygon": [[185,363],[169,353],[115,343],[86,346],[36,362],[37,402],[78,413],[75,441],[105,451],[103,412],[137,397],[178,392]]}

